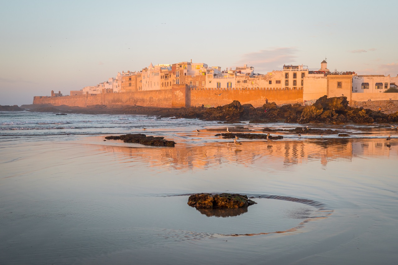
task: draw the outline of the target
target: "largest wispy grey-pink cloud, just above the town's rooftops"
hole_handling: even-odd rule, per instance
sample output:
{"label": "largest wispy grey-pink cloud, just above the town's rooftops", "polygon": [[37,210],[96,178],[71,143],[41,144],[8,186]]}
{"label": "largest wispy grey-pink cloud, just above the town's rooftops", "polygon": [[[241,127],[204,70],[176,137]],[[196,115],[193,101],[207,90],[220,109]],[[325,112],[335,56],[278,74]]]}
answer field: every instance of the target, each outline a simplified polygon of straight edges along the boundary
{"label": "largest wispy grey-pink cloud, just above the town's rooftops", "polygon": [[296,48],[283,47],[273,50],[261,50],[254,53],[246,53],[237,62],[237,65],[248,64],[253,66],[255,72],[269,72],[281,69],[283,64],[291,64],[296,61]]}

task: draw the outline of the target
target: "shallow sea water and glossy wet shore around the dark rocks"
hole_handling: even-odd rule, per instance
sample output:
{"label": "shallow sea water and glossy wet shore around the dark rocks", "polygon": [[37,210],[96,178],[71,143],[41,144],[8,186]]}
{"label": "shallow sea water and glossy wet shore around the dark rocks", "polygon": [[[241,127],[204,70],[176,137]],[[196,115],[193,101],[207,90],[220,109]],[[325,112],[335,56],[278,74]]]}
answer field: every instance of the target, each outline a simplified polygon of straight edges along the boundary
{"label": "shallow sea water and glossy wet shore around the dark rocks", "polygon": [[[306,125],[0,112],[0,263],[395,264],[397,130],[308,126],[350,136],[236,146],[215,134]],[[176,147],[104,141],[127,133]],[[257,204],[189,207],[202,192]]]}

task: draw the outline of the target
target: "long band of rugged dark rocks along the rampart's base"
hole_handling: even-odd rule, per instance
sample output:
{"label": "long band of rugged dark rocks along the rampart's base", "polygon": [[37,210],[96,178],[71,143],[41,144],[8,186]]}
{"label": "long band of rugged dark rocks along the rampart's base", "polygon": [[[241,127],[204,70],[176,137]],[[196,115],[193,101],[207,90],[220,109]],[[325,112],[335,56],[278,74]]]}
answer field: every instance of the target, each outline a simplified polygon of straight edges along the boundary
{"label": "long band of rugged dark rocks along the rampart's base", "polygon": [[[396,123],[398,111],[390,114],[363,107],[350,107],[347,97],[320,97],[313,105],[287,104],[277,106],[275,102],[266,103],[261,107],[251,104],[240,104],[239,101],[219,107],[181,107],[160,108],[142,106],[96,105],[86,108],[52,106],[52,105],[27,105],[32,107],[29,111],[54,112],[54,113],[84,113],[84,114],[138,114],[162,117],[175,117],[185,119],[201,119],[204,121],[221,121],[224,123],[322,123],[322,124],[370,124],[370,123]],[[34,107],[34,108],[33,108]]]}

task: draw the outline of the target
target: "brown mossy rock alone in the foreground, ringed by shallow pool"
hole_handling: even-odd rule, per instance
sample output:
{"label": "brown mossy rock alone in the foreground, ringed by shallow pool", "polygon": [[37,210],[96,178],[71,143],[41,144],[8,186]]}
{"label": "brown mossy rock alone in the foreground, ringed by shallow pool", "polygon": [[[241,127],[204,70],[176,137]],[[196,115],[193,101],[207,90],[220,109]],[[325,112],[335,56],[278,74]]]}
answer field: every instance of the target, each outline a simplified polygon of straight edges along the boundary
{"label": "brown mossy rock alone in the foreground, ringed by shallow pool", "polygon": [[256,202],[248,199],[246,195],[233,193],[215,195],[199,193],[191,195],[188,198],[188,205],[197,209],[241,208],[254,204]]}

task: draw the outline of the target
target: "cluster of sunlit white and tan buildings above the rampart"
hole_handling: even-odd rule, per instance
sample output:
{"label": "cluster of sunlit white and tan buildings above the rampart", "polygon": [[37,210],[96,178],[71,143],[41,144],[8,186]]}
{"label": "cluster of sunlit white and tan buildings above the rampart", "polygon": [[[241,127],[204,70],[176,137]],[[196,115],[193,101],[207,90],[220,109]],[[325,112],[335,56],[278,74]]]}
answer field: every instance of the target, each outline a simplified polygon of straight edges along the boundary
{"label": "cluster of sunlit white and tan buildings above the rampart", "polygon": [[[171,89],[173,85],[186,85],[191,90],[303,90],[303,101],[313,101],[330,94],[327,76],[349,75],[352,93],[384,92],[390,87],[397,87],[396,77],[384,75],[357,75],[355,72],[331,72],[326,60],[316,71],[308,70],[304,65],[284,65],[282,70],[273,70],[267,74],[254,72],[254,67],[247,66],[221,70],[219,66],[208,66],[205,63],[179,62],[175,64],[152,63],[140,71],[118,72],[96,86],[86,86],[82,90],[70,91],[70,95],[131,93],[148,90]],[[351,79],[351,78],[350,78]],[[341,82],[336,83],[341,88]],[[347,88],[346,90],[347,91]],[[58,95],[62,95],[59,94]],[[57,95],[55,95],[57,96]],[[339,96],[339,95],[338,95]]]}

